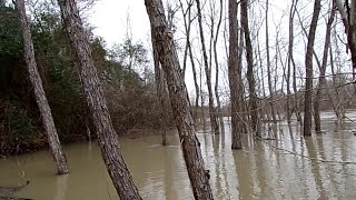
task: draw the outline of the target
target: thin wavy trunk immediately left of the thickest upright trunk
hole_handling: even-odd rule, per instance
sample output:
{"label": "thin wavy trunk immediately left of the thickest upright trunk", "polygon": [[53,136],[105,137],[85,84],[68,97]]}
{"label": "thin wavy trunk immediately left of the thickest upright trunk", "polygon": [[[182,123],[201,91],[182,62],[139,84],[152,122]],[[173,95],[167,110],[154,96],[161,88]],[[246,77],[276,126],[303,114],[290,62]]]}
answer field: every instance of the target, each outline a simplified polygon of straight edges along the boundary
{"label": "thin wavy trunk immediately left of the thickest upright trunk", "polygon": [[217,52],[217,43],[218,43],[218,37],[220,31],[220,26],[222,21],[222,0],[220,0],[220,11],[219,11],[219,21],[216,28],[216,34],[214,39],[214,60],[215,60],[215,98],[217,102],[217,111],[219,112],[219,122],[220,122],[220,129],[221,133],[225,133],[225,126],[224,126],[224,118],[222,118],[222,110],[221,110],[221,101],[219,97],[219,63],[218,63],[218,52]]}

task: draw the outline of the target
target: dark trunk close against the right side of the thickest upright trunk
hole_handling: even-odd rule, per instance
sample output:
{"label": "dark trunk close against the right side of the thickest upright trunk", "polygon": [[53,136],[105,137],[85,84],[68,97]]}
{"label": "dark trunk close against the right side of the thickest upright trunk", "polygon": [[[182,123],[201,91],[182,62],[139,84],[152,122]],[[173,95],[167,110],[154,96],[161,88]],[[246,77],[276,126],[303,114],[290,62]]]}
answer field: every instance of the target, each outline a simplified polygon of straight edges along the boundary
{"label": "dark trunk close against the right side of the thickest upright trunk", "polygon": [[[247,79],[249,86],[249,103],[251,112],[251,129],[254,134],[260,137],[260,131],[258,128],[258,110],[257,110],[257,94],[256,94],[256,81],[254,77],[254,53],[253,43],[250,39],[249,28],[248,28],[248,13],[247,13],[247,0],[240,1],[241,7],[241,24],[244,28],[245,43],[246,43],[246,59],[247,59]],[[241,58],[240,58],[241,59]]]}

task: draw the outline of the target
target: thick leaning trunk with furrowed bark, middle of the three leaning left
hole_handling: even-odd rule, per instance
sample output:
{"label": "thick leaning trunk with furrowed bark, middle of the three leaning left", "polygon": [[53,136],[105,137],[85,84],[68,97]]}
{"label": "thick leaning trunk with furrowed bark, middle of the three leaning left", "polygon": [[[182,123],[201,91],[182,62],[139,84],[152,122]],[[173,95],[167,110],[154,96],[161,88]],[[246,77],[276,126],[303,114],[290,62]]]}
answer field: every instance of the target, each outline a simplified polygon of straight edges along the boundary
{"label": "thick leaning trunk with furrowed bark, middle of the three leaning left", "polygon": [[79,62],[78,71],[83,86],[85,98],[98,134],[98,143],[107,170],[121,200],[141,199],[120,152],[118,134],[111,123],[102,88],[92,61],[89,37],[82,27],[77,2],[76,0],[58,0],[58,2],[67,33]]}

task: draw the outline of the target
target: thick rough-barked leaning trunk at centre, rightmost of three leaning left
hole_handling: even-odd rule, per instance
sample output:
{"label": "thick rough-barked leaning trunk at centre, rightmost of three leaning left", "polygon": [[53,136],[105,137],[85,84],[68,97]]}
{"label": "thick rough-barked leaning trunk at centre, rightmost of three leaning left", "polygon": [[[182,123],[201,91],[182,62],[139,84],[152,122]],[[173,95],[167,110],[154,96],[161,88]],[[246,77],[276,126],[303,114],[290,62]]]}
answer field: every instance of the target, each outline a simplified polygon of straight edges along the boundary
{"label": "thick rough-barked leaning trunk at centre, rightmost of three leaning left", "polygon": [[205,170],[199,141],[189,110],[186,84],[181,77],[171,31],[167,27],[161,0],[145,0],[159,61],[166,74],[172,113],[178,128],[182,154],[196,199],[212,199],[209,174]]}

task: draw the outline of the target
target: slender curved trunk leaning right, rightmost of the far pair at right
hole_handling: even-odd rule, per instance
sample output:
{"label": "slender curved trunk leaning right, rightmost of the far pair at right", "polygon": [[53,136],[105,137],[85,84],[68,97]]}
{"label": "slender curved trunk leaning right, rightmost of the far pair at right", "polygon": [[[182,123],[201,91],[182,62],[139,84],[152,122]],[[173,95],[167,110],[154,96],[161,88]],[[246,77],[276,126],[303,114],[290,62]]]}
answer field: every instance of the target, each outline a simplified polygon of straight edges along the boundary
{"label": "slender curved trunk leaning right, rightmost of the far pair at right", "polygon": [[332,13],[326,24],[325,44],[324,44],[323,62],[322,62],[320,74],[319,74],[319,83],[317,87],[316,97],[314,99],[314,123],[315,123],[316,133],[322,132],[320,98],[322,98],[322,88],[325,86],[325,81],[326,81],[325,71],[326,71],[327,57],[328,57],[328,50],[330,44],[332,26],[334,23],[335,12],[336,12],[334,7],[335,7],[335,1],[333,0]]}

